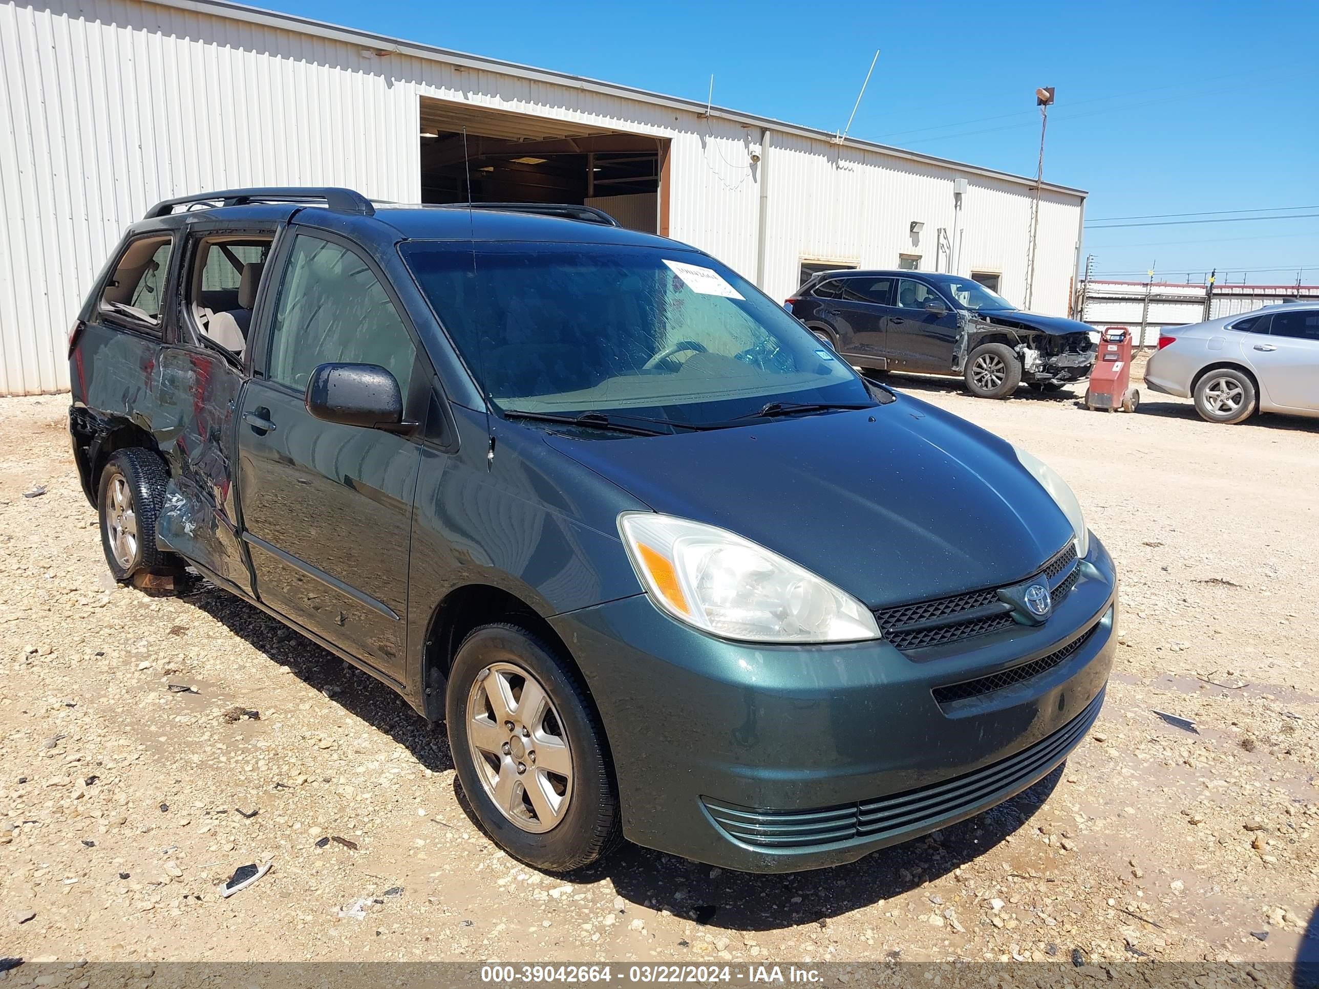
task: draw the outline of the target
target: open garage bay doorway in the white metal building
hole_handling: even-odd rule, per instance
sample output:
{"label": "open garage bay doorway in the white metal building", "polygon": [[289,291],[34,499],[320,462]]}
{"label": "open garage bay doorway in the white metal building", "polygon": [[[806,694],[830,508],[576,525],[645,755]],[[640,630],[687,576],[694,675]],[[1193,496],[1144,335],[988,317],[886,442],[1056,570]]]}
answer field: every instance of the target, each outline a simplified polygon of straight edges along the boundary
{"label": "open garage bay doorway in the white metal building", "polygon": [[[463,132],[467,150],[463,150]],[[595,206],[621,225],[667,233],[667,138],[423,96],[421,198]]]}

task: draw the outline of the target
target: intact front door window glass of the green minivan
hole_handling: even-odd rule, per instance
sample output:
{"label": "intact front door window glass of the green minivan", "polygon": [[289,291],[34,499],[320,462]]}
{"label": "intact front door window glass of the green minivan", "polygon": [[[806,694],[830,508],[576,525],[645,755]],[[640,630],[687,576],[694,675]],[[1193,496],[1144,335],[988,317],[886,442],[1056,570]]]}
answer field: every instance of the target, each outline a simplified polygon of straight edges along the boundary
{"label": "intact front door window glass of the green minivan", "polygon": [[348,248],[299,233],[270,323],[266,377],[305,390],[317,365],[376,364],[408,397],[417,349],[394,303]]}

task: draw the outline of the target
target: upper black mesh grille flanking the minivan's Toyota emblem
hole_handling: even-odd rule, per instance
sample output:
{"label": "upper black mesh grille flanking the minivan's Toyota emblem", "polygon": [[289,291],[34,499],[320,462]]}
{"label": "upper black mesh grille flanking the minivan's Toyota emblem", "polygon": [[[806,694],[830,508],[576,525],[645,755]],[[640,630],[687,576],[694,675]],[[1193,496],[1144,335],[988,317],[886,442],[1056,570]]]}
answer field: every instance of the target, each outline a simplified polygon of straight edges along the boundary
{"label": "upper black mesh grille flanking the minivan's Toyota emblem", "polygon": [[[1035,576],[1049,582],[1050,596],[1057,605],[1080,579],[1075,543],[1068,542],[1054,554]],[[959,642],[1016,624],[1008,604],[998,597],[997,588],[992,587],[878,609],[874,618],[884,638],[902,651]]]}

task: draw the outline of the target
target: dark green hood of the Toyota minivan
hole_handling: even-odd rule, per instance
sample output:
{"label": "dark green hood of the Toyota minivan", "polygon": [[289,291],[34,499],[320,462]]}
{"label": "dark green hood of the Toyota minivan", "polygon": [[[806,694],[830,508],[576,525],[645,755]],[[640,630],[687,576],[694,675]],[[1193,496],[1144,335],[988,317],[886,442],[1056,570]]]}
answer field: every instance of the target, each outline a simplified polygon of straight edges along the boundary
{"label": "dark green hood of the Toyota minivan", "polygon": [[707,433],[546,442],[656,512],[739,533],[871,608],[1016,583],[1072,535],[1008,443],[907,396]]}

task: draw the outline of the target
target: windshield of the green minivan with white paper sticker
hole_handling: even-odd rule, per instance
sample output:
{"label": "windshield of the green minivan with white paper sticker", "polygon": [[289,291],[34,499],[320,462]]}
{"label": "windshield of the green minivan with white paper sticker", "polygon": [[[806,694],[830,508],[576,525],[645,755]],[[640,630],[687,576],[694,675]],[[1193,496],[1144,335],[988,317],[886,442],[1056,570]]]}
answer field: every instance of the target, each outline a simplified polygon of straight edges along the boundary
{"label": "windshield of the green minivan with white paper sticker", "polygon": [[[678,248],[410,241],[422,293],[496,407],[727,422],[769,402],[873,405],[744,278]],[[474,273],[475,269],[475,273]]]}

